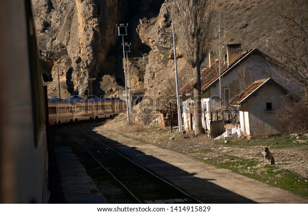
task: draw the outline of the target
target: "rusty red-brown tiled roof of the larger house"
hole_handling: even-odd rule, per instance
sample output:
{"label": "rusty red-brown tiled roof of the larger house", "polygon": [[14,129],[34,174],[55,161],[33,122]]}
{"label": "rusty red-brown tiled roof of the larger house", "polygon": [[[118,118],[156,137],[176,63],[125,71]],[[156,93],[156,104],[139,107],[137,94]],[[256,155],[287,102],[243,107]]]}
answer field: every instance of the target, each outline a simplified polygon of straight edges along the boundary
{"label": "rusty red-brown tiled roof of the larger house", "polygon": [[[246,55],[251,53],[253,50],[257,49],[252,49],[248,51],[242,51],[242,55],[235,60],[231,65],[227,66],[227,63],[224,63],[221,67],[221,75],[225,76],[227,75],[230,69],[233,68],[233,66],[239,62],[242,58],[244,58]],[[257,50],[258,51],[258,50]],[[224,59],[221,58],[221,62],[223,62]],[[219,66],[218,66],[218,60],[216,59],[215,64],[211,67],[207,66],[205,69],[201,71],[201,91],[205,92],[206,88],[209,87],[211,84],[214,84],[216,81],[219,80]],[[193,81],[190,80],[188,83],[186,83],[180,90],[179,93],[181,95],[190,95],[193,94],[194,88],[192,87]]]}

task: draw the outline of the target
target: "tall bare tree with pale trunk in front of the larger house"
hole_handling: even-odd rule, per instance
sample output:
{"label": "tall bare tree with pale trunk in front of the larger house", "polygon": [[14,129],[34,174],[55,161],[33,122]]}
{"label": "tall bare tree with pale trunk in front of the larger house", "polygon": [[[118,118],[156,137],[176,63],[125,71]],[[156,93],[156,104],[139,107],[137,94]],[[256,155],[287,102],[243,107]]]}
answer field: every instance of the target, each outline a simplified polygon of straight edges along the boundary
{"label": "tall bare tree with pale trunk in front of the larger house", "polygon": [[211,42],[210,23],[215,0],[178,0],[172,3],[179,46],[193,69],[195,134],[202,134],[200,65],[208,54]]}

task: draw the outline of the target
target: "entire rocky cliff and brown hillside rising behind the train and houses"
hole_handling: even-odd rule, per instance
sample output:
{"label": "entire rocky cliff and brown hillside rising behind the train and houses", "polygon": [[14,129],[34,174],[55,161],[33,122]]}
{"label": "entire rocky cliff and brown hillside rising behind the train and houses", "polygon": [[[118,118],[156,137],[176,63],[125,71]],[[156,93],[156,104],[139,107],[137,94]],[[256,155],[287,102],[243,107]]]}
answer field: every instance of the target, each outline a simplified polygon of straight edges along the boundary
{"label": "entire rocky cliff and brown hillside rising behind the train and houses", "polygon": [[[128,53],[131,88],[147,88],[148,74],[147,94],[172,94],[175,84],[171,18],[168,3],[163,2],[32,0],[49,97],[59,96],[58,77],[62,98],[88,93],[108,95],[123,88],[122,37],[117,35],[115,27],[120,23],[129,26],[125,42],[131,42]],[[241,42],[243,49],[258,48],[275,57],[284,31],[282,17],[291,12],[290,1],[252,0],[248,4],[242,0],[217,0],[213,25],[216,29],[220,13],[225,44]],[[177,47],[180,85],[183,85],[190,79],[191,69],[182,57],[181,44]],[[149,53],[145,61],[143,53]],[[205,60],[202,67],[206,65]]]}

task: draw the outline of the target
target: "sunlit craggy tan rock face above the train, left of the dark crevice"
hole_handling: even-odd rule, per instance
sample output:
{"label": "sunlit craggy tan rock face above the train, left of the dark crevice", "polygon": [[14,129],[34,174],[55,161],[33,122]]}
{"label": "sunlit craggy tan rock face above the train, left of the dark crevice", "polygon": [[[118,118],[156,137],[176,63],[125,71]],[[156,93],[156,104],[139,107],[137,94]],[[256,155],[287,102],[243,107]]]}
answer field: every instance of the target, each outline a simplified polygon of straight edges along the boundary
{"label": "sunlit craggy tan rock face above the train, left of the dark crevice", "polygon": [[[83,96],[89,78],[98,76],[101,62],[117,40],[119,1],[32,0],[32,3],[45,80],[57,80],[59,70],[62,96]],[[59,91],[57,81],[48,88],[49,96]]]}

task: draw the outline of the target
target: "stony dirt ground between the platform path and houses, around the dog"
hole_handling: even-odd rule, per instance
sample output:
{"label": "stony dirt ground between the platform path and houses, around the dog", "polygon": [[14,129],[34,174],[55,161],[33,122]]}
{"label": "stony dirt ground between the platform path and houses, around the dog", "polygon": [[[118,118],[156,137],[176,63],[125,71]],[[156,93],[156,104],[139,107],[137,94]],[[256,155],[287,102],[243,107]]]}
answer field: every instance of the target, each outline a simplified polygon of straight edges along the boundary
{"label": "stony dirt ground between the platform path and houses, around the dog", "polygon": [[[258,164],[252,166],[256,174],[264,171],[262,147],[267,146],[275,157],[276,167],[291,170],[299,174],[306,182],[308,180],[308,135],[264,137],[254,140],[232,139],[229,143],[225,143],[224,140],[209,139],[206,135],[196,137],[192,132],[182,134],[174,131],[171,133],[155,125],[144,127],[136,123],[127,124],[123,117],[110,120],[97,129],[109,129],[205,162],[223,163],[234,159],[257,161]],[[241,173],[249,174],[251,170],[251,167],[241,168]]]}

